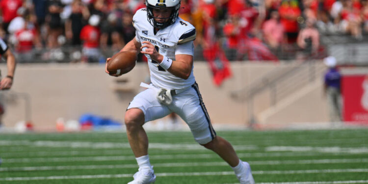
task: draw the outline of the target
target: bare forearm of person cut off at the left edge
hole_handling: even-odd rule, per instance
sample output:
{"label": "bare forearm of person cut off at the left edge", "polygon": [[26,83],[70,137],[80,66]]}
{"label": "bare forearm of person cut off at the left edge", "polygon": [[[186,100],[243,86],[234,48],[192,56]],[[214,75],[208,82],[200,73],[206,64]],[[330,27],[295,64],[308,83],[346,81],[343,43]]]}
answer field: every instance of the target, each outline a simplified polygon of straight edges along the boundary
{"label": "bare forearm of person cut off at the left edge", "polygon": [[3,56],[6,58],[6,66],[7,66],[7,75],[5,78],[1,79],[0,81],[0,89],[10,89],[10,87],[13,84],[13,77],[15,72],[15,57],[14,54],[10,51],[10,49],[6,50],[6,52],[3,54]]}

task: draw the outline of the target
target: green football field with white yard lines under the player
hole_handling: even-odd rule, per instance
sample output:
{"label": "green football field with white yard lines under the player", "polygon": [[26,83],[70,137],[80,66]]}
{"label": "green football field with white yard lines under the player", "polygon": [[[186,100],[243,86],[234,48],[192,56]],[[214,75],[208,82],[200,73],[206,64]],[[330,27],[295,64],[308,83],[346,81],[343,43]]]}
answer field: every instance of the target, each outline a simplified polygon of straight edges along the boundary
{"label": "green football field with white yard lines under the player", "polygon": [[[257,184],[368,184],[368,129],[217,131]],[[237,184],[187,131],[149,131],[155,184]],[[127,184],[137,171],[125,132],[1,133],[0,184]]]}

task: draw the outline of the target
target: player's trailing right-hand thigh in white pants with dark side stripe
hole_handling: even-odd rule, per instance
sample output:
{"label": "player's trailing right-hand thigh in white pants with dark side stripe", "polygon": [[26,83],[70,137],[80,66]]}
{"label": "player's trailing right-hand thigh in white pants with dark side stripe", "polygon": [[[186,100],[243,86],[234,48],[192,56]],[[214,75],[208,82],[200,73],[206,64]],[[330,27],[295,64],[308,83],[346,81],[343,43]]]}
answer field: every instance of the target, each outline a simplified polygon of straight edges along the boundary
{"label": "player's trailing right-hand thigh in white pants with dark side stripe", "polygon": [[185,121],[199,144],[206,144],[213,140],[216,132],[213,130],[210,117],[198,89],[191,89],[188,98],[180,111],[176,113]]}

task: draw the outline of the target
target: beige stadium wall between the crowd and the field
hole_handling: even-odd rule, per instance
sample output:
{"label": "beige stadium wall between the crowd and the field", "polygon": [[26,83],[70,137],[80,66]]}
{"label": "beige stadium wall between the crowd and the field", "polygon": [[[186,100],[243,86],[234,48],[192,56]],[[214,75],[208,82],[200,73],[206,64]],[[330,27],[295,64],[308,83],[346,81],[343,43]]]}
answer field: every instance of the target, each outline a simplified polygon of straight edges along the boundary
{"label": "beige stadium wall between the crowd and the field", "polygon": [[[195,62],[194,66],[194,75],[212,123],[232,127],[246,126],[248,117],[247,102],[231,98],[231,92],[246,87],[270,71],[282,71],[292,64],[233,62],[233,77],[220,87],[212,83],[206,62]],[[6,65],[1,64],[0,68],[2,74],[6,74]],[[6,109],[3,124],[12,127],[19,121],[26,121],[27,112],[35,129],[54,129],[58,118],[78,120],[84,113],[123,122],[129,102],[143,90],[139,83],[148,75],[145,63],[138,63],[130,73],[119,78],[106,75],[105,65],[98,64],[18,64],[12,89],[2,91]],[[257,120],[261,124],[327,121],[321,80],[306,86],[306,92],[286,105],[284,102],[283,106],[271,110],[267,105],[269,94],[263,92],[265,94],[256,101]],[[24,96],[29,97],[29,108]]]}

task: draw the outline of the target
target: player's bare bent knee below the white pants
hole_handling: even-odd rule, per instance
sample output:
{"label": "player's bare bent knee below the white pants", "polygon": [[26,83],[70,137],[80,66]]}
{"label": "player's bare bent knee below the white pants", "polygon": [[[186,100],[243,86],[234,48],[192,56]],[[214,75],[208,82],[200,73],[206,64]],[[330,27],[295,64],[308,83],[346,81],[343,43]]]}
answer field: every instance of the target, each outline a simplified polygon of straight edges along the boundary
{"label": "player's bare bent knee below the white pants", "polygon": [[138,108],[129,109],[125,113],[124,122],[127,131],[132,130],[138,126],[142,126],[144,124],[144,114],[142,110]]}

